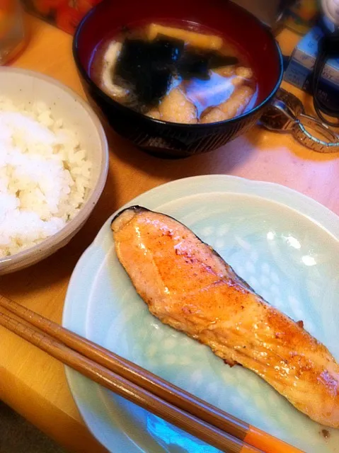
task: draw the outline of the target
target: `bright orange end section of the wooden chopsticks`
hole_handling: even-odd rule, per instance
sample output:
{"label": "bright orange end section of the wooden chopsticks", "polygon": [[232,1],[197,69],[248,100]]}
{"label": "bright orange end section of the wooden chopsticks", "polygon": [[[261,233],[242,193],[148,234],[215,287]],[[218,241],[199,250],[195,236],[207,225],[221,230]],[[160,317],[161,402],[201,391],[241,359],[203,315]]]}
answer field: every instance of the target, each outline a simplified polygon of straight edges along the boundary
{"label": "bright orange end section of the wooden chopsticks", "polygon": [[[243,439],[243,442],[247,442],[265,453],[303,453],[302,450],[251,425],[248,428],[248,432]],[[241,453],[244,452],[245,450],[241,449]]]}

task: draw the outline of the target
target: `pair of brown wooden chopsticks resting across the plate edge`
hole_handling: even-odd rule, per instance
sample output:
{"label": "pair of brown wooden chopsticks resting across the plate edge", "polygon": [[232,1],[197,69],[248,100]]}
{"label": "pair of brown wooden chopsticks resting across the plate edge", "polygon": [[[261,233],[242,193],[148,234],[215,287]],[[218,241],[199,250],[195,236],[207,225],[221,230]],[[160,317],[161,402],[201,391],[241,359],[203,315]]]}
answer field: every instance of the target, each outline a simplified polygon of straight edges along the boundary
{"label": "pair of brown wooden chopsticks resting across the plate edge", "polygon": [[0,296],[0,306],[1,326],[222,452],[301,452],[16,302]]}

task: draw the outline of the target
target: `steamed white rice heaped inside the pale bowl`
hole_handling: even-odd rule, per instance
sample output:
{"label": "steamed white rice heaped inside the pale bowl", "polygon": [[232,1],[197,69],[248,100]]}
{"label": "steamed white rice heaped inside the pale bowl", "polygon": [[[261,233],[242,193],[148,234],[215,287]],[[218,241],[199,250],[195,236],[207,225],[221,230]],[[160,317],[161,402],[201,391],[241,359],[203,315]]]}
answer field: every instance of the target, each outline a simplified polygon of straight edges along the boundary
{"label": "steamed white rice heaped inside the pale bowl", "polygon": [[0,258],[35,246],[76,216],[90,187],[86,156],[45,103],[0,97]]}

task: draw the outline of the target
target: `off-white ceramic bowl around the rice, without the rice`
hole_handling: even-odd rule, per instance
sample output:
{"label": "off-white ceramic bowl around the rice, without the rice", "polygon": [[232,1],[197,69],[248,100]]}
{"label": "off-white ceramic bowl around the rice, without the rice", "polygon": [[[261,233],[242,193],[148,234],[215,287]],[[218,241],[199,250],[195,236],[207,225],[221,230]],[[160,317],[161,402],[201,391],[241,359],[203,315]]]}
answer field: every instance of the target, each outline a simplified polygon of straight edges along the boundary
{"label": "off-white ceramic bowl around the rice, without the rice", "polygon": [[100,120],[92,108],[59,81],[24,69],[0,68],[0,96],[15,103],[42,101],[52,115],[62,117],[67,128],[79,134],[81,147],[92,162],[91,188],[79,214],[53,236],[12,256],[0,258],[0,275],[27,268],[65,246],[81,229],[103,192],[108,174],[108,143]]}

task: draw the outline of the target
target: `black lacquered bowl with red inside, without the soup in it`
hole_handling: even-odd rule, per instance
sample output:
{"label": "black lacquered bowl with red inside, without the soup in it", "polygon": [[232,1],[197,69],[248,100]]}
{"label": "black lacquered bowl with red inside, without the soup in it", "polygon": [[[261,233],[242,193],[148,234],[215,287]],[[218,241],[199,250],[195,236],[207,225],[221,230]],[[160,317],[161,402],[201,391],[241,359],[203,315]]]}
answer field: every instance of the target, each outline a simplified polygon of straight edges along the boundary
{"label": "black lacquered bowl with red inside, without the soup in it", "polygon": [[[146,117],[113,101],[100,90],[89,75],[98,43],[123,25],[159,20],[193,21],[239,43],[258,78],[257,105],[231,120],[186,125]],[[104,0],[79,24],[73,54],[86,93],[113,129],[137,147],[161,157],[212,151],[246,132],[275,95],[283,74],[282,55],[270,31],[257,18],[227,0]]]}

